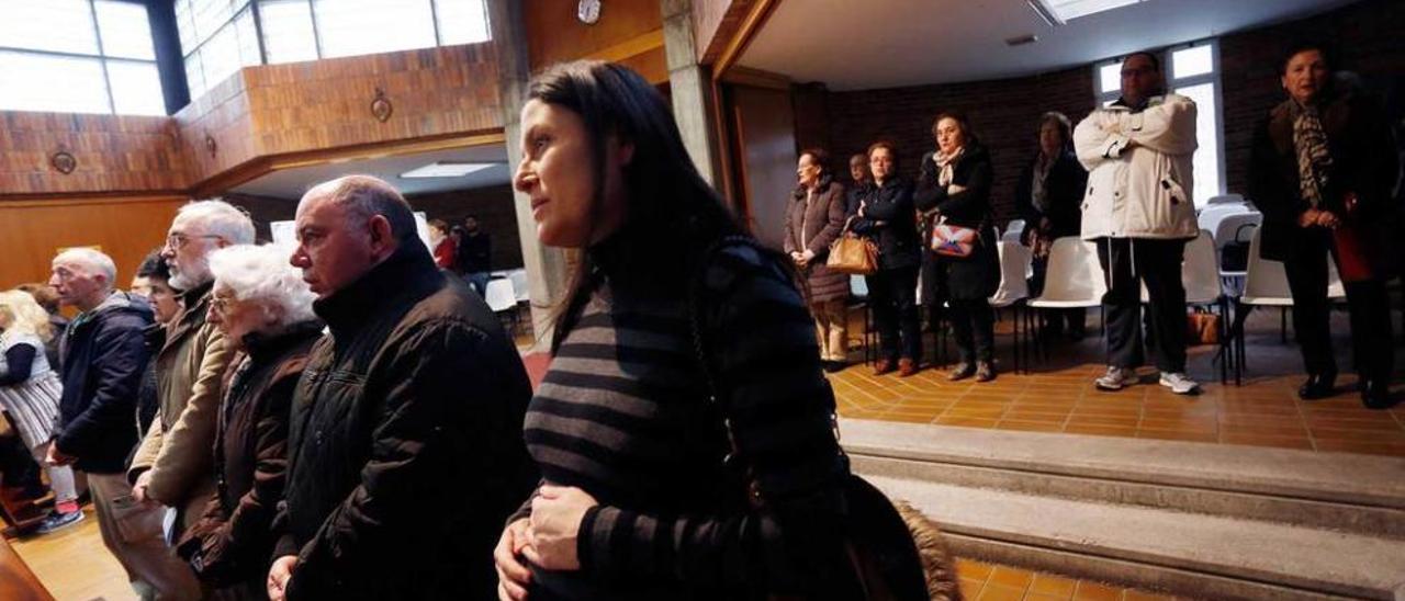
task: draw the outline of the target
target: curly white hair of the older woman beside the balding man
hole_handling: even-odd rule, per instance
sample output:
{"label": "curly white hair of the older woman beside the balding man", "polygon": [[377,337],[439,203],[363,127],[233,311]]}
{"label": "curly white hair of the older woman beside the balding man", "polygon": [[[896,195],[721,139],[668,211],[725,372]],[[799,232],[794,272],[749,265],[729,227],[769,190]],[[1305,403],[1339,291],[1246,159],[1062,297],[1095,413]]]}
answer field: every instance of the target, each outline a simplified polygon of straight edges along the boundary
{"label": "curly white hair of the older woman beside the balding man", "polygon": [[302,270],[288,264],[289,254],[289,249],[275,244],[226,246],[209,254],[209,272],[216,289],[228,288],[240,302],[277,309],[274,329],[281,331],[316,317],[312,312],[316,296],[302,281]]}

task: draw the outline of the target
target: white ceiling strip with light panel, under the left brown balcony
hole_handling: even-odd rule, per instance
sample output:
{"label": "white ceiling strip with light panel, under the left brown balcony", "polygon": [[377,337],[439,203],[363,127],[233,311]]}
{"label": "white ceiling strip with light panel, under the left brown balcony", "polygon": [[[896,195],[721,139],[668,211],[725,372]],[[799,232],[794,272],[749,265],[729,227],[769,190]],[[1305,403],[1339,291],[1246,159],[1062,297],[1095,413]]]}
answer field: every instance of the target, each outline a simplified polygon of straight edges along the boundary
{"label": "white ceiling strip with light panel, under the left brown balcony", "polygon": [[[414,167],[450,160],[472,163],[497,163],[482,171],[464,177],[402,178],[400,174]],[[375,176],[395,185],[400,194],[447,192],[451,190],[482,188],[511,181],[507,171],[507,147],[503,145],[469,146],[450,150],[436,150],[420,154],[400,154],[377,159],[348,160],[341,163],[315,164],[308,167],[273,171],[257,180],[236,185],[235,192],[257,194],[298,199],[308,188],[341,176]]]}

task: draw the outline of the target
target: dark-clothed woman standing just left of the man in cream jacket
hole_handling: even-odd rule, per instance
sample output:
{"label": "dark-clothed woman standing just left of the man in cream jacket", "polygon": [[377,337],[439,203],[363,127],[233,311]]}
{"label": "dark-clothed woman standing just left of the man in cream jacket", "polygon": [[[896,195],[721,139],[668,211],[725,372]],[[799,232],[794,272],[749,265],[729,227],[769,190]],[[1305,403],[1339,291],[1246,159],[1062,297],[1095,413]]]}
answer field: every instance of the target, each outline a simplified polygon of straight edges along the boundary
{"label": "dark-clothed woman standing just left of the man in cream jacket", "polygon": [[[1078,236],[1086,187],[1087,171],[1073,154],[1073,125],[1062,112],[1045,112],[1040,117],[1040,152],[1014,185],[1014,208],[1026,223],[1021,242],[1034,254],[1030,295],[1038,296],[1044,291],[1054,240]],[[1050,336],[1061,336],[1065,320],[1073,340],[1086,333],[1083,309],[1054,310],[1050,316],[1044,324]]]}

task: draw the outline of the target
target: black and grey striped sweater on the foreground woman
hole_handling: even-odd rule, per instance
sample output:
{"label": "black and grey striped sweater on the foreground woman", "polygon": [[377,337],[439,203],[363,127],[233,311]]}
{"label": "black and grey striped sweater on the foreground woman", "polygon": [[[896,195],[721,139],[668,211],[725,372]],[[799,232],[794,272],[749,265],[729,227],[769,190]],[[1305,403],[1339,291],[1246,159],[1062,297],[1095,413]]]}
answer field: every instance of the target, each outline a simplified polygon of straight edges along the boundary
{"label": "black and grey striped sweater on the foreground woman", "polygon": [[[742,598],[825,586],[842,553],[833,491],[847,466],[795,285],[769,256],[733,244],[712,256],[698,288],[718,397],[769,500],[757,511],[722,466],[729,444],[719,407],[707,400],[687,286],[656,285],[611,254],[593,254],[600,284],[527,413],[542,477],[600,501],[582,524],[582,573],[545,580],[599,598]],[[542,593],[534,598],[551,597]]]}

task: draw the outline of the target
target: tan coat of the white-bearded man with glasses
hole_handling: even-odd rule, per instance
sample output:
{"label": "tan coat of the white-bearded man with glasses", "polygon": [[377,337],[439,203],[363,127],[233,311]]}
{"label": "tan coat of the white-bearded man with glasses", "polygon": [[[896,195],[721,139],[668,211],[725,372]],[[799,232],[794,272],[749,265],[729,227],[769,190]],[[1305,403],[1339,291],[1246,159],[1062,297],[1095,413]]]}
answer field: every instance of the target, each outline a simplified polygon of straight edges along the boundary
{"label": "tan coat of the white-bearded man with glasses", "polygon": [[128,477],[150,470],[146,493],[163,506],[184,510],[185,525],[200,518],[215,494],[214,440],[222,376],[233,350],[212,323],[209,285],[181,296],[185,309],[171,322],[156,355],[160,406],[142,438]]}

